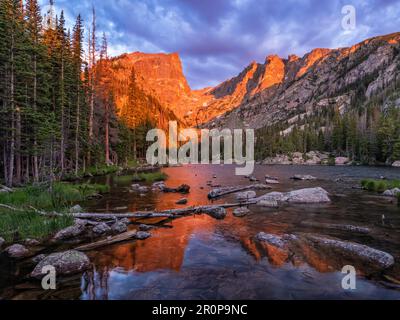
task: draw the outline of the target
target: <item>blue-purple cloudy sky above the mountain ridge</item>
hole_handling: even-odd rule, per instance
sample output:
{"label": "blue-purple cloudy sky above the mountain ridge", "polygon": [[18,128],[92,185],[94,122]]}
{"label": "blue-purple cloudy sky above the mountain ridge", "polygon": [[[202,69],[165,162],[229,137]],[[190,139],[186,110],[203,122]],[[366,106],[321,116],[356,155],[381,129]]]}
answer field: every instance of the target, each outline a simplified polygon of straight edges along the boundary
{"label": "blue-purple cloudy sky above the mountain ridge", "polygon": [[[44,7],[48,0],[39,0]],[[216,85],[269,54],[302,56],[400,31],[399,0],[55,0],[69,24],[92,4],[110,54],[178,52],[192,88]],[[354,30],[342,28],[342,8],[356,9]],[[45,8],[44,8],[45,10]]]}

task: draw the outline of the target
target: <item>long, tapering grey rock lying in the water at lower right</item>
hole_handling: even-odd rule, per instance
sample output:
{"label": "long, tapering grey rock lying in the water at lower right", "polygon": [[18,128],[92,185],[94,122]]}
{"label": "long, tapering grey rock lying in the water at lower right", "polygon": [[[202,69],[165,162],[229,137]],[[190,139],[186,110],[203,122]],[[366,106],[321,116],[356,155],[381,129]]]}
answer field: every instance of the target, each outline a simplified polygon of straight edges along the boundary
{"label": "long, tapering grey rock lying in the water at lower right", "polygon": [[317,235],[306,235],[305,238],[329,252],[333,251],[349,260],[359,259],[372,268],[387,269],[394,265],[394,258],[389,253],[362,244]]}

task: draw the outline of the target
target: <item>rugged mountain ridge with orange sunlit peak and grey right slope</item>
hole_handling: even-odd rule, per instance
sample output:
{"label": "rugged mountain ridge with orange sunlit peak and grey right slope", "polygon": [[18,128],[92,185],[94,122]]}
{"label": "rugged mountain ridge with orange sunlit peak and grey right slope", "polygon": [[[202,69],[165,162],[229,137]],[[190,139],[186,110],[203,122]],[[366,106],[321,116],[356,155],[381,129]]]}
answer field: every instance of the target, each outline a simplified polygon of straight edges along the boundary
{"label": "rugged mountain ridge with orange sunlit peak and grey right slope", "polygon": [[103,74],[117,115],[130,126],[150,118],[161,127],[178,120],[187,126],[260,128],[332,103],[346,110],[360,83],[372,96],[398,76],[399,42],[396,33],[350,48],[315,49],[302,58],[268,56],[203,90],[191,90],[176,53],[124,54],[107,60]]}

